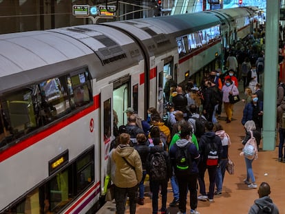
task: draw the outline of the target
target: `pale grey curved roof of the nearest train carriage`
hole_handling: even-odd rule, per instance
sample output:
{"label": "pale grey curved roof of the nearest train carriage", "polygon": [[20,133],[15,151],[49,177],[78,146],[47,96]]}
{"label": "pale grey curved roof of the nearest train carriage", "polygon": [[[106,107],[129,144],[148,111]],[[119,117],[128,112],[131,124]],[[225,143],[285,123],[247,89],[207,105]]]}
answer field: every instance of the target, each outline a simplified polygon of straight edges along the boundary
{"label": "pale grey curved roof of the nearest train carriage", "polygon": [[129,36],[103,25],[1,34],[0,92],[84,65],[99,79],[141,59]]}

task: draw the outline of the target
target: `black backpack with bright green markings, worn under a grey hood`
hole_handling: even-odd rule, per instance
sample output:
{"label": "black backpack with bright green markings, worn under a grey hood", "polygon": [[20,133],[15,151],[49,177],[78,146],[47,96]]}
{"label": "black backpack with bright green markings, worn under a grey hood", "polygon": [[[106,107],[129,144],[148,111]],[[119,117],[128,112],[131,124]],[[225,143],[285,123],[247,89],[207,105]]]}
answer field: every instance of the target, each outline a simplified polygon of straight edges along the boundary
{"label": "black backpack with bright green markings, worn under a grey hood", "polygon": [[175,159],[175,171],[179,175],[189,175],[192,169],[192,161],[188,148],[191,142],[188,142],[184,147],[177,147],[176,159]]}

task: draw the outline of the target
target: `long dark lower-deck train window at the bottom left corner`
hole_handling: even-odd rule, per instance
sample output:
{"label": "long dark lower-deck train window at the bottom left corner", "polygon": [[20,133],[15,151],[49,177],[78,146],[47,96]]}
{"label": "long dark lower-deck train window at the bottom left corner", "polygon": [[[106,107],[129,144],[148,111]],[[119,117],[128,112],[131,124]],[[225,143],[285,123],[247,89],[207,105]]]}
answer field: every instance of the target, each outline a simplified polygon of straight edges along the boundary
{"label": "long dark lower-deck train window at the bottom left corner", "polygon": [[94,182],[94,147],[1,213],[59,213]]}

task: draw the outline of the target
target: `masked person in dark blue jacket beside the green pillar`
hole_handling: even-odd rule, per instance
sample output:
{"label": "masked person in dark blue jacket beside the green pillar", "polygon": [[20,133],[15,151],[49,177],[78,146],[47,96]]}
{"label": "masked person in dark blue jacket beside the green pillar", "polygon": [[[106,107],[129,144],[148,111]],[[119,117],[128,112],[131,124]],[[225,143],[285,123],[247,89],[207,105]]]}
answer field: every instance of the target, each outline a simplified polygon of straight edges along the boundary
{"label": "masked person in dark blue jacket beside the green pillar", "polygon": [[246,121],[253,120],[257,131],[260,131],[262,128],[262,115],[263,111],[260,110],[260,104],[258,103],[258,98],[256,94],[251,95],[251,103],[246,104],[244,107],[244,114],[242,116],[242,125]]}

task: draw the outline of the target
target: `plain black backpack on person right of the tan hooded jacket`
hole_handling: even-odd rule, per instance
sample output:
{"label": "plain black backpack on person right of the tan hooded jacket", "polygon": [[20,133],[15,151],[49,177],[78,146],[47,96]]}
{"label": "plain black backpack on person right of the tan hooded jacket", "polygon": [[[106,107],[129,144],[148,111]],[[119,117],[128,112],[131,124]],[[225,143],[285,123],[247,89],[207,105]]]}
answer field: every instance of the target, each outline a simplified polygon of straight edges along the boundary
{"label": "plain black backpack on person right of the tan hooded jacket", "polygon": [[162,152],[152,153],[149,162],[150,180],[165,180],[167,178],[167,162]]}

